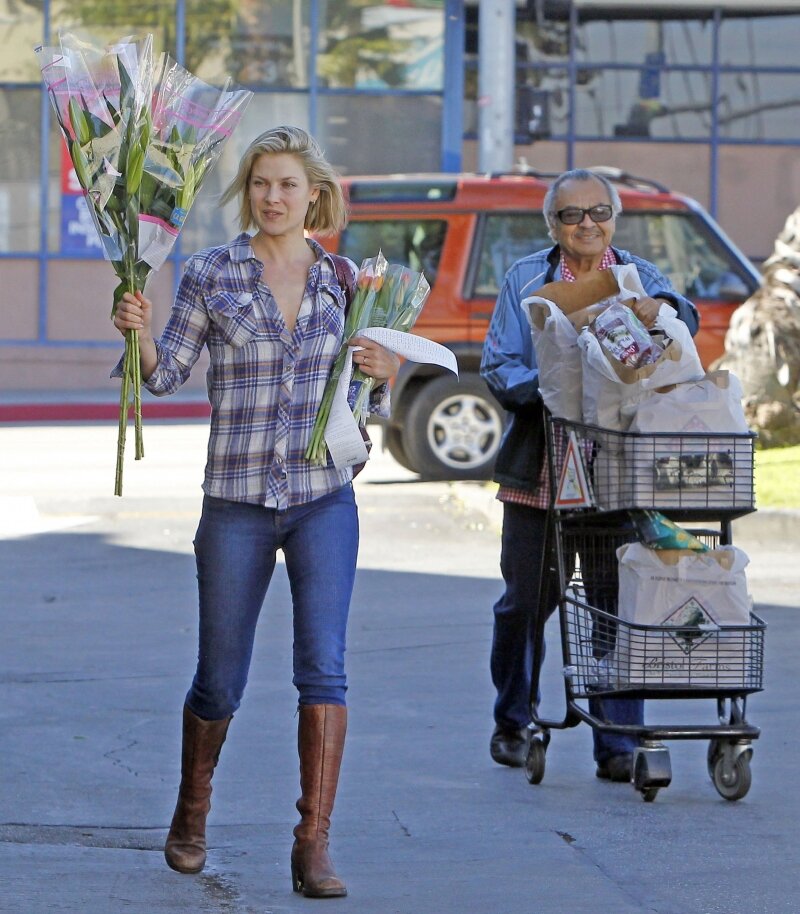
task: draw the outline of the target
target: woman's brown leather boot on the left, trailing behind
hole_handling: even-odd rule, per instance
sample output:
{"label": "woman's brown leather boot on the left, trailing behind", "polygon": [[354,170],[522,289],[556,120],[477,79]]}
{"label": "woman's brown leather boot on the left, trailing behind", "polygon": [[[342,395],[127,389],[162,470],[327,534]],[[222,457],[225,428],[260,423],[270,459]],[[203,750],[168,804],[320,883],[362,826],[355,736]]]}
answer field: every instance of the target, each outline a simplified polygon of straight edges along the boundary
{"label": "woman's brown leather boot on the left, trailing behind", "polygon": [[205,866],[211,776],[231,720],[202,720],[183,707],[181,786],[164,846],[167,863],[179,873],[199,873]]}

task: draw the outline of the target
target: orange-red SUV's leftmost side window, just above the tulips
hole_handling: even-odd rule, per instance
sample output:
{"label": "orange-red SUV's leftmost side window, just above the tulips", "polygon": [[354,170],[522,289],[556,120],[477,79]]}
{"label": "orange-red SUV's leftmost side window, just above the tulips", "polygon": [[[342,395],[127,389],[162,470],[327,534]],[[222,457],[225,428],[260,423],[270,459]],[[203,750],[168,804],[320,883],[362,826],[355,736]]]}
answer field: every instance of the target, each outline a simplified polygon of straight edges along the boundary
{"label": "orange-red SUV's leftmost side window, just above the tulips", "polygon": [[447,223],[443,219],[352,220],[342,232],[339,253],[357,264],[378,251],[390,263],[421,270],[433,288]]}

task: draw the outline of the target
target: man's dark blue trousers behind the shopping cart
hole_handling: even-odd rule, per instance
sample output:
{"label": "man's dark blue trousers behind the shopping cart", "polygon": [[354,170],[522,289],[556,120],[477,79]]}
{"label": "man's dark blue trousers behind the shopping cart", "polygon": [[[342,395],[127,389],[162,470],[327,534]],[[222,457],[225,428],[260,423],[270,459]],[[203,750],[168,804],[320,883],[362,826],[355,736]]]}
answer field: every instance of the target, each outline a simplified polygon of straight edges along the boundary
{"label": "man's dark blue trousers behind the shopping cart", "polygon": [[[507,729],[527,726],[531,711],[531,676],[537,625],[552,615],[558,605],[557,577],[549,571],[545,556],[547,512],[526,505],[503,505],[503,535],[500,570],[505,591],[494,605],[494,632],[490,668],[497,697],[495,722]],[[539,584],[544,575],[546,595],[539,602]],[[542,618],[543,617],[543,618]],[[618,724],[642,723],[643,702],[638,699],[591,699],[593,714]],[[592,730],[594,757],[605,762],[612,755],[632,752],[634,737]]]}

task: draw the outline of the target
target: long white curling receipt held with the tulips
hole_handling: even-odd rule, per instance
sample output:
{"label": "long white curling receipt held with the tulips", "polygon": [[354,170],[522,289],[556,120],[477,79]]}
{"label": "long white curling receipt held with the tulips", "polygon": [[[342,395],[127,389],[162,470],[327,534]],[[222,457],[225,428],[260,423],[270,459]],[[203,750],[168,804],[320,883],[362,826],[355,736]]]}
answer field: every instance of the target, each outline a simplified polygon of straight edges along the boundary
{"label": "long white curling receipt held with the tulips", "polygon": [[[415,336],[402,330],[389,330],[386,327],[368,327],[366,330],[359,330],[358,336],[373,340],[410,362],[441,365],[442,368],[458,375],[455,355],[446,346],[434,343],[423,336]],[[339,375],[328,424],[325,426],[325,443],[328,445],[334,466],[339,470],[364,463],[369,458],[358,422],[347,402],[352,375],[353,361],[348,359]]]}

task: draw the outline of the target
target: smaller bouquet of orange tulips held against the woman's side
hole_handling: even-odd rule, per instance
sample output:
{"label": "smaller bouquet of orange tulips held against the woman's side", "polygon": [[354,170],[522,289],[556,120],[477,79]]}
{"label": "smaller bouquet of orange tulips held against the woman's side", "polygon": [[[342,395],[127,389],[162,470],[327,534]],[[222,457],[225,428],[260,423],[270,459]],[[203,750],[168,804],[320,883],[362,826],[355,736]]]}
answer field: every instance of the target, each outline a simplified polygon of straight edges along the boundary
{"label": "smaller bouquet of orange tulips held against the woman's side", "polygon": [[[330,417],[331,403],[342,371],[353,356],[353,348],[347,345],[347,340],[358,336],[360,331],[368,327],[385,327],[408,333],[419,317],[429,292],[430,286],[423,273],[417,273],[401,264],[388,263],[380,252],[377,257],[368,257],[363,261],[358,272],[356,291],[345,320],[345,342],[333,364],[331,376],[322,396],[322,403],[311,432],[311,441],[306,449],[307,460],[318,466],[325,466],[327,463],[325,430]],[[353,417],[360,425],[367,419],[369,395],[374,386],[375,378],[364,374],[360,368],[353,371],[347,401]]]}

